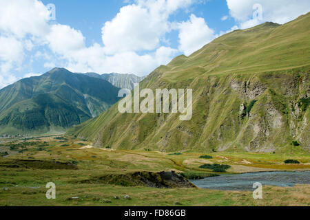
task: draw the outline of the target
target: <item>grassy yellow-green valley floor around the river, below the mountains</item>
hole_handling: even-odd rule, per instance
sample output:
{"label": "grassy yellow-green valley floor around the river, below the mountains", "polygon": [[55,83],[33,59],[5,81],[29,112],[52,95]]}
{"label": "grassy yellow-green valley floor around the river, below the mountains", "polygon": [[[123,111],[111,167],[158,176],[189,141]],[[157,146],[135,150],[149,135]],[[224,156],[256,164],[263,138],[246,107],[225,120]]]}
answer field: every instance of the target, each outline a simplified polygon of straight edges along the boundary
{"label": "grassy yellow-green valley floor around the river, below the mountains", "polygon": [[[1,139],[0,153],[0,206],[310,206],[310,185],[263,186],[263,199],[253,199],[252,191],[151,188],[131,182],[128,176],[138,171],[164,170],[183,173],[187,178],[218,175],[199,168],[203,164],[231,166],[221,175],[310,170],[310,154],[300,151],[127,151],[92,148],[85,140],[50,136]],[[203,159],[201,155],[212,158]],[[300,164],[285,164],[285,159],[297,159]],[[56,199],[45,197],[48,182],[56,185]],[[125,198],[127,195],[129,198]]]}

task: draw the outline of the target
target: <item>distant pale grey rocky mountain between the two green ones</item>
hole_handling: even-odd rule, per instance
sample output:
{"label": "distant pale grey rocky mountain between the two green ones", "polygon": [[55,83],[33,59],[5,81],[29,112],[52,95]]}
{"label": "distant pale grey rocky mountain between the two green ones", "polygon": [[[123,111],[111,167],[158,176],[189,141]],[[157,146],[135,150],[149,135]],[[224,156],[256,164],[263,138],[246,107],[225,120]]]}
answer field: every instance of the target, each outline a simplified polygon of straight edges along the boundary
{"label": "distant pale grey rocky mountain between the two green ones", "polygon": [[103,80],[107,80],[114,87],[122,88],[122,89],[134,89],[135,83],[140,83],[144,77],[139,77],[134,74],[95,74],[95,73],[87,73],[87,76],[92,76],[96,78],[101,78]]}

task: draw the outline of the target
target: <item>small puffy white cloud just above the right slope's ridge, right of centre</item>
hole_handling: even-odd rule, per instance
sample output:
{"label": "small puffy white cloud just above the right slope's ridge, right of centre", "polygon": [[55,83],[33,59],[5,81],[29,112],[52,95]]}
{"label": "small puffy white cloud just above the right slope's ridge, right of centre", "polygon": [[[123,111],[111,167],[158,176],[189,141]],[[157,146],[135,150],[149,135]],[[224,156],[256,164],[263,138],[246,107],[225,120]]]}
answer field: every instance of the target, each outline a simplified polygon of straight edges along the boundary
{"label": "small puffy white cloud just above the right slope's ridge, right of centre", "polygon": [[179,43],[178,49],[189,56],[196,50],[199,50],[203,45],[209,43],[216,38],[214,30],[208,27],[205,19],[198,18],[191,14],[189,21],[178,24]]}

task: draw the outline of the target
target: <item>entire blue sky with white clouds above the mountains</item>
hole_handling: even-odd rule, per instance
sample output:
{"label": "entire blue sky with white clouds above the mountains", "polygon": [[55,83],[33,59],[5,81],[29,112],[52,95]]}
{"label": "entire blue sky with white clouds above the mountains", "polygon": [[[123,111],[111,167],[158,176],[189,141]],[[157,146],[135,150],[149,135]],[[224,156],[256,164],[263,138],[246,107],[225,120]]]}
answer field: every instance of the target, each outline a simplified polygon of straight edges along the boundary
{"label": "entire blue sky with white clouds above the mountains", "polygon": [[233,30],[309,11],[309,0],[0,0],[0,89],[54,67],[146,76]]}

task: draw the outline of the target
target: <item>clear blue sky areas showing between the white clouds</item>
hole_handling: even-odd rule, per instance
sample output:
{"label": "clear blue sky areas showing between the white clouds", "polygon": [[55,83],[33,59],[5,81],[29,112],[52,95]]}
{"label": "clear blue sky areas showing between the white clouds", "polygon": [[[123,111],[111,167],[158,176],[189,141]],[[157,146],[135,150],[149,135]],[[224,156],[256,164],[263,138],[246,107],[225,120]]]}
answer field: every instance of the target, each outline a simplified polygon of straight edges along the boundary
{"label": "clear blue sky areas showing between the white clouds", "polygon": [[[101,40],[101,28],[105,21],[112,20],[119,9],[127,5],[121,0],[112,1],[75,1],[75,0],[44,0],[45,5],[54,3],[56,6],[56,21],[58,23],[70,25],[70,27],[81,30],[86,38],[86,45],[90,46],[97,42],[103,45]],[[172,14],[169,21],[187,21],[189,14],[194,13],[198,17],[203,17],[210,28],[214,28],[219,33],[221,30],[229,30],[234,25],[233,19],[223,22],[220,19],[229,14],[225,0],[200,1],[201,3],[192,5],[188,12],[178,10]],[[170,34],[173,47],[178,46],[177,32]]]}

